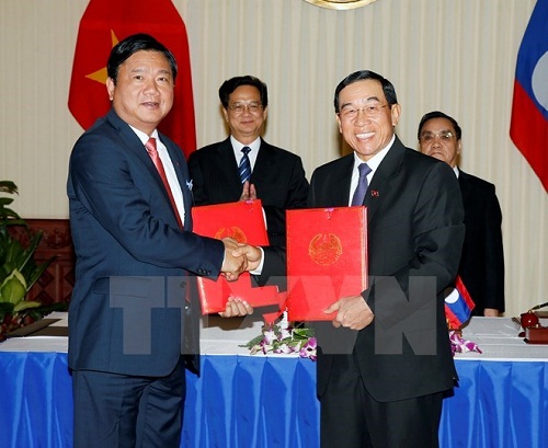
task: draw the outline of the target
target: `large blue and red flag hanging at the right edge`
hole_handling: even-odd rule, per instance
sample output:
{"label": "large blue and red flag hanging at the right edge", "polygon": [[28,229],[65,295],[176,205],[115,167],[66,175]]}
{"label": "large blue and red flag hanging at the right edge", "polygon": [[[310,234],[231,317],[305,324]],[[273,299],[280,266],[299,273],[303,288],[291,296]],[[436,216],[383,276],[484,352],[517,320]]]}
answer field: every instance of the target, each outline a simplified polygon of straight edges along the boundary
{"label": "large blue and red flag hanging at the right edge", "polygon": [[510,137],[548,192],[548,0],[537,0],[517,53]]}

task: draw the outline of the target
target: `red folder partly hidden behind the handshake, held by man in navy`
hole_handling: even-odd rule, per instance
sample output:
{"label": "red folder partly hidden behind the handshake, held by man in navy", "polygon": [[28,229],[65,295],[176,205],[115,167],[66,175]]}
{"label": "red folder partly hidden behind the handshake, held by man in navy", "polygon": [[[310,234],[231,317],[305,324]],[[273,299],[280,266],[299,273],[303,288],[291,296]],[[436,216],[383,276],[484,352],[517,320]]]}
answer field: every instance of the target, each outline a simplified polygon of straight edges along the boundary
{"label": "red folder partly hidden behind the handshake, held by man in navy", "polygon": [[[230,237],[240,243],[267,245],[269,236],[260,199],[206,205],[192,208],[193,231],[204,237],[222,239]],[[229,297],[244,299],[252,307],[279,305],[276,286],[252,286],[248,272],[236,282],[197,277],[199,302],[203,314],[225,311]]]}

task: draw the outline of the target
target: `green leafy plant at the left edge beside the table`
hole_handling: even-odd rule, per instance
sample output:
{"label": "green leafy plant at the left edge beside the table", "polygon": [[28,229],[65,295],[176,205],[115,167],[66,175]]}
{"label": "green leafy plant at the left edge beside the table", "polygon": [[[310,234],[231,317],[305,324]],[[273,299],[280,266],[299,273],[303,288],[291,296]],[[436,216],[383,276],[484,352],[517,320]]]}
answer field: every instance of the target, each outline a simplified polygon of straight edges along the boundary
{"label": "green leafy plant at the left edge beside the table", "polygon": [[[0,181],[0,193],[15,195],[16,185],[11,181]],[[31,232],[26,222],[8,206],[12,197],[0,196],[0,335],[24,325],[31,310],[37,311],[38,301],[25,300],[26,294],[55,260],[44,263],[34,261],[34,252],[42,239],[42,231]],[[23,226],[28,236],[28,244],[10,232],[11,226]],[[36,313],[32,314],[34,319]]]}

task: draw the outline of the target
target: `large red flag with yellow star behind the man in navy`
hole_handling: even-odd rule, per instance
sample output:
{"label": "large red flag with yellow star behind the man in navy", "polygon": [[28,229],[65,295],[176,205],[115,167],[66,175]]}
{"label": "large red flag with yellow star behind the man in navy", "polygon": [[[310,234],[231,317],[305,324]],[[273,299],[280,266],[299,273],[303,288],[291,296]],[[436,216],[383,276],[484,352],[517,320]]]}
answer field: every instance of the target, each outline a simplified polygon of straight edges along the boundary
{"label": "large red flag with yellow star behind the man in navy", "polygon": [[109,112],[106,60],[114,45],[136,33],[152,35],[175,56],[173,107],[159,129],[189,156],[196,149],[189,39],[171,0],[90,0],[78,31],[69,110],[84,129]]}

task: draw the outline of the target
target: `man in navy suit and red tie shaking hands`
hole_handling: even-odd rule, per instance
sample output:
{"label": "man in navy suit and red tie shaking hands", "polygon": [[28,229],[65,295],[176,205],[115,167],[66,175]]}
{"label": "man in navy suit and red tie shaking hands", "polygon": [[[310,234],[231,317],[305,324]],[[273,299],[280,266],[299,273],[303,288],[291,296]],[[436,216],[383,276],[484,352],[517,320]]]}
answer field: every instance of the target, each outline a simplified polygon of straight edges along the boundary
{"label": "man in navy suit and red tie shaking hands", "polygon": [[[112,108],[75,145],[67,182],[75,447],[175,448],[189,273],[233,279],[247,262],[232,255],[236,242],[192,233],[183,153],[157,130],[173,104],[171,51],[129,36],[112,49],[107,74]],[[225,315],[251,311],[232,301]]]}

